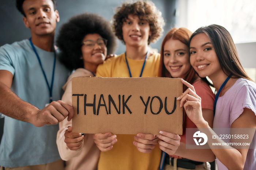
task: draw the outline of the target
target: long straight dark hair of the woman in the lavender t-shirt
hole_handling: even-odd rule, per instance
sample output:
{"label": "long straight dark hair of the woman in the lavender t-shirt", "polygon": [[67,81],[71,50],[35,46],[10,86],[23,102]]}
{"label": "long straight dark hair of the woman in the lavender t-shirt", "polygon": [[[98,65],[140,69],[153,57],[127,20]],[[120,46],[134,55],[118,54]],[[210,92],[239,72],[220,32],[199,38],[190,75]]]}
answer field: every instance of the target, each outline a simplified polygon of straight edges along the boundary
{"label": "long straight dark hair of the woman in the lavender t-shirt", "polygon": [[200,33],[204,33],[211,40],[211,43],[215,49],[222,71],[229,76],[232,74],[232,78],[246,78],[247,80],[253,81],[245,73],[240,59],[238,57],[236,46],[233,39],[226,30],[226,28],[212,24],[207,27],[198,28],[190,38],[191,39]]}

